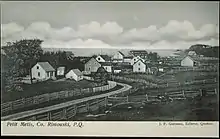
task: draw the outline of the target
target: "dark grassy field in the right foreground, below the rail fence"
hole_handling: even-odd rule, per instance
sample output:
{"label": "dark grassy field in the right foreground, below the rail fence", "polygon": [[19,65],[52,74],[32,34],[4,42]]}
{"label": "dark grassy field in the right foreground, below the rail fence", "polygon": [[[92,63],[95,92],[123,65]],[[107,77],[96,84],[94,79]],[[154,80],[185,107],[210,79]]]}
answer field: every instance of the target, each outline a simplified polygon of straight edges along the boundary
{"label": "dark grassy field in the right foreground, below the rail fence", "polygon": [[[109,110],[109,109],[105,109]],[[110,110],[105,116],[88,118],[78,115],[71,120],[94,121],[216,121],[218,100],[216,96],[161,104],[123,104]],[[103,110],[93,114],[104,113]]]}

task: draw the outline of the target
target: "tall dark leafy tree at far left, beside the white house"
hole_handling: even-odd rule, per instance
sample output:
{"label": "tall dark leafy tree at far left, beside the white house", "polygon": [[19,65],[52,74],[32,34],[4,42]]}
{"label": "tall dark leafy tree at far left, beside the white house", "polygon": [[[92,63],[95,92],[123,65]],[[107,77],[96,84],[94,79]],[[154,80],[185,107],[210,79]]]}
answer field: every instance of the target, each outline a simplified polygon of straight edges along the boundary
{"label": "tall dark leafy tree at far left, beside the white house", "polygon": [[31,67],[43,53],[42,42],[40,39],[23,39],[9,42],[6,46],[3,46],[2,49],[6,54],[4,65],[10,67],[7,70],[6,78],[16,79],[27,74],[31,76]]}

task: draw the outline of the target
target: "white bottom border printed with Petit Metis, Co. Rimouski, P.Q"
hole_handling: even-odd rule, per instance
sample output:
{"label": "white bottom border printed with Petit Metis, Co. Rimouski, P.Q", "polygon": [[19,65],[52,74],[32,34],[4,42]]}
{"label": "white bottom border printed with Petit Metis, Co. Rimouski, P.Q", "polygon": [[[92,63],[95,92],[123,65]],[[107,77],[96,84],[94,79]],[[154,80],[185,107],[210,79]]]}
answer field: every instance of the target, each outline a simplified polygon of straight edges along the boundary
{"label": "white bottom border printed with Petit Metis, Co. Rimouski, P.Q", "polygon": [[[41,121],[44,127],[38,127],[38,121],[30,122],[34,127],[19,126],[22,121],[14,121],[18,126],[7,126],[8,122],[2,121],[2,135],[16,136],[110,136],[110,137],[219,137],[219,122],[193,122],[198,125],[186,125],[189,122],[93,122],[82,121],[83,127],[49,127],[48,122]],[[28,121],[26,121],[28,122]],[[73,121],[67,121],[73,125]],[[79,122],[79,121],[78,121]],[[65,122],[54,122],[65,123]],[[167,125],[159,125],[166,123]],[[180,124],[183,125],[170,125]],[[208,123],[208,125],[202,125]]]}

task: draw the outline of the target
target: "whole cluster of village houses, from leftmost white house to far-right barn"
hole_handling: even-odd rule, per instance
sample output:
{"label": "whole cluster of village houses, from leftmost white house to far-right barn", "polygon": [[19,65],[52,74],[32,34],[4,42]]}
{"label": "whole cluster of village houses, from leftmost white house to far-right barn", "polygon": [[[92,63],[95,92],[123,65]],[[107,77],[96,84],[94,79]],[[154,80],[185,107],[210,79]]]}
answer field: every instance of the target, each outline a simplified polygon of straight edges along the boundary
{"label": "whole cluster of village houses, from leftmost white house to far-right barn", "polygon": [[[194,67],[209,65],[213,61],[218,62],[218,58],[207,58],[197,55],[194,51],[188,52],[183,56],[177,56],[179,66]],[[108,73],[117,74],[120,72],[129,73],[149,73],[164,72],[165,60],[150,61],[148,53],[145,50],[132,50],[130,54],[125,55],[121,51],[116,52],[112,57],[108,55],[98,55],[90,57],[84,62],[84,71],[71,69],[65,72],[65,67],[58,67],[55,70],[48,62],[38,62],[32,68],[32,78],[37,80],[55,79],[56,76],[65,76],[67,79],[80,81],[83,75],[97,72],[98,68],[103,67]],[[174,60],[173,60],[174,61]],[[56,73],[56,74],[55,74]]]}

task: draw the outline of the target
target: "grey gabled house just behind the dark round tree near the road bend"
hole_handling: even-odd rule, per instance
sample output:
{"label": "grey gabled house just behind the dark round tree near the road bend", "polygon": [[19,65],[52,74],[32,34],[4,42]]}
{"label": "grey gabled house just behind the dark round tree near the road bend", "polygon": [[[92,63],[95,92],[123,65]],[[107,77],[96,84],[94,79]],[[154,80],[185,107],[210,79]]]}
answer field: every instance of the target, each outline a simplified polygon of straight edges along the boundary
{"label": "grey gabled house just behind the dark round tree near the road bend", "polygon": [[96,72],[99,67],[102,65],[95,59],[91,58],[89,61],[85,63],[85,69],[84,71],[87,73]]}

